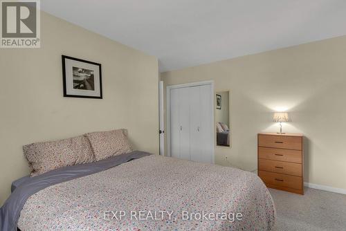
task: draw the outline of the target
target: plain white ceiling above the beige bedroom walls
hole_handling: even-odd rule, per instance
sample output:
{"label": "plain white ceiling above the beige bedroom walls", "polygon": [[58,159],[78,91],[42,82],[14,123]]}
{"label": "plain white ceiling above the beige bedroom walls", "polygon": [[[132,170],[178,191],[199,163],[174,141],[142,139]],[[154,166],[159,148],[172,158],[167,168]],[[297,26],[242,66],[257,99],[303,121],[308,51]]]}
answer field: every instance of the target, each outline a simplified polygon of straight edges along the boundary
{"label": "plain white ceiling above the beige bedroom walls", "polygon": [[42,0],[172,71],[346,35],[346,0]]}

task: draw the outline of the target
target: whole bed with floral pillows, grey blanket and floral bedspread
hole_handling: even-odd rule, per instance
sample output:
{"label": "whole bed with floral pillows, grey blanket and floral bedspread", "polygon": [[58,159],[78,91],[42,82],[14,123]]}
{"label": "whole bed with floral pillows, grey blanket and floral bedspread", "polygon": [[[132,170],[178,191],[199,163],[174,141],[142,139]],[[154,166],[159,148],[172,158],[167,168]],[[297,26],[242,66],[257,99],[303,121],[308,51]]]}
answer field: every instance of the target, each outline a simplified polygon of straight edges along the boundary
{"label": "whole bed with floral pillows, grey blanket and floral bedspread", "polygon": [[132,151],[126,129],[24,145],[0,230],[271,230],[255,174]]}

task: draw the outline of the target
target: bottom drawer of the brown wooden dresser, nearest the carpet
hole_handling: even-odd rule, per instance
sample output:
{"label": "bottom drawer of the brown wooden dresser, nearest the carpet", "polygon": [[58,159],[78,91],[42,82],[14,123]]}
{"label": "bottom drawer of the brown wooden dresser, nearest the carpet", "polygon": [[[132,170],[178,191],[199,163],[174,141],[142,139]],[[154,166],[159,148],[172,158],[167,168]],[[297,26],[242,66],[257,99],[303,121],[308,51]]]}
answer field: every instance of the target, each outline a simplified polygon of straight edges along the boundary
{"label": "bottom drawer of the brown wooden dresser, nearest the carpet", "polygon": [[258,176],[266,185],[276,185],[289,187],[295,190],[302,190],[302,178],[299,176],[289,176],[274,172],[258,171]]}

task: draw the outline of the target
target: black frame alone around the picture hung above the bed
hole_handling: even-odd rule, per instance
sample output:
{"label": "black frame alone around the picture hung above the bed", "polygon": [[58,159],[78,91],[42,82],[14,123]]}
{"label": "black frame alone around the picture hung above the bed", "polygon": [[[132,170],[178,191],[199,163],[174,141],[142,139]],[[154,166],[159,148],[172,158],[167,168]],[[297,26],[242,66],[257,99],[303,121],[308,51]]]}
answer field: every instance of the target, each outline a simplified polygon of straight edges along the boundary
{"label": "black frame alone around the picture hung above the bed", "polygon": [[[82,62],[85,64],[91,64],[94,66],[98,66],[98,76],[99,76],[99,95],[78,95],[78,94],[71,94],[68,93],[68,89],[67,89],[67,80],[66,78],[71,77],[71,76],[67,76],[66,75],[66,61],[70,59],[73,61],[77,61],[77,62]],[[62,55],[62,84],[63,84],[63,92],[64,92],[64,97],[71,97],[71,98],[93,98],[93,99],[102,99],[102,65],[98,64],[96,62],[91,62],[88,60],[84,60],[84,59],[78,59],[75,57],[71,57],[71,56],[67,56],[67,55]]]}

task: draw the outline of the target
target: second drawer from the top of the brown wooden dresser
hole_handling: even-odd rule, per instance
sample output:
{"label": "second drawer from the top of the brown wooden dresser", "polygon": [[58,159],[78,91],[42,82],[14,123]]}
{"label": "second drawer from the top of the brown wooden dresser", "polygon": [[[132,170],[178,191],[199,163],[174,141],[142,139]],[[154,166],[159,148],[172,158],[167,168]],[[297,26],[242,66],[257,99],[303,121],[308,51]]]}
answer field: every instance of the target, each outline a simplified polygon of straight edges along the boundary
{"label": "second drawer from the top of the brown wooden dresser", "polygon": [[273,149],[268,147],[258,147],[258,158],[301,164],[302,151],[291,150],[291,149]]}

